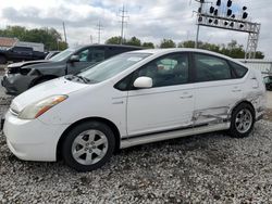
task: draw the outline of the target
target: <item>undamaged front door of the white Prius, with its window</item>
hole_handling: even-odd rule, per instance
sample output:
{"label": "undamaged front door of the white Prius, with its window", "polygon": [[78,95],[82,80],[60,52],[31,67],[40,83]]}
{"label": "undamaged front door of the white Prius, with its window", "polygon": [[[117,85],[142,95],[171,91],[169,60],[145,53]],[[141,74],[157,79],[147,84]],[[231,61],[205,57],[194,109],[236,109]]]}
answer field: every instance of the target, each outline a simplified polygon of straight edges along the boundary
{"label": "undamaged front door of the white Prius, with its window", "polygon": [[132,81],[141,76],[150,77],[153,85],[128,91],[128,137],[189,127],[194,90],[188,54],[173,53],[153,60],[137,69]]}

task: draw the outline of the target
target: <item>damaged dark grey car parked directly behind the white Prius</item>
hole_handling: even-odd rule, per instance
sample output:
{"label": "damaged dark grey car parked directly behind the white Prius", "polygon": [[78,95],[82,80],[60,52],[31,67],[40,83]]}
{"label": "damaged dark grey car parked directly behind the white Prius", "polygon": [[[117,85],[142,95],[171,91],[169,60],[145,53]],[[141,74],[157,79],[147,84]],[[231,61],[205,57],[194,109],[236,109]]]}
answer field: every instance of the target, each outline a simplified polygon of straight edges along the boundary
{"label": "damaged dark grey car parked directly behind the white Prius", "polygon": [[20,94],[30,87],[64,75],[75,75],[113,55],[140,50],[139,47],[90,44],[69,48],[49,60],[10,64],[1,81],[8,94]]}

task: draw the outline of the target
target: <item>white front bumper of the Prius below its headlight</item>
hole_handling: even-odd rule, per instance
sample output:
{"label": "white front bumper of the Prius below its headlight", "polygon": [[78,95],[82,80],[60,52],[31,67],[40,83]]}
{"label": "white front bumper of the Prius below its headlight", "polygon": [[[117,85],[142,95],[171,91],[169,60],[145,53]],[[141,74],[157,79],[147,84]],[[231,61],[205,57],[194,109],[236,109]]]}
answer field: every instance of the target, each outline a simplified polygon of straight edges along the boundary
{"label": "white front bumper of the Prius below its headlight", "polygon": [[9,111],[3,132],[11,152],[24,161],[57,161],[57,145],[67,125],[47,125],[39,119],[20,119]]}

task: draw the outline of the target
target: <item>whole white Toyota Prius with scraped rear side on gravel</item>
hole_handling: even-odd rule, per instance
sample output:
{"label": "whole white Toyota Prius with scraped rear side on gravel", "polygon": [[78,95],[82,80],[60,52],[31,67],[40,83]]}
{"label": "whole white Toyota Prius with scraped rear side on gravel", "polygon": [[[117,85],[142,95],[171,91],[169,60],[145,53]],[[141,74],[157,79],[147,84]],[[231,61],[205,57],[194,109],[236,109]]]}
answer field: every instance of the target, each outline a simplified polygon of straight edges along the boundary
{"label": "whole white Toyota Prius with scraped rear side on gravel", "polygon": [[133,51],[20,94],[3,131],[21,160],[86,171],[118,149],[218,130],[246,137],[264,90],[260,72],[213,52]]}

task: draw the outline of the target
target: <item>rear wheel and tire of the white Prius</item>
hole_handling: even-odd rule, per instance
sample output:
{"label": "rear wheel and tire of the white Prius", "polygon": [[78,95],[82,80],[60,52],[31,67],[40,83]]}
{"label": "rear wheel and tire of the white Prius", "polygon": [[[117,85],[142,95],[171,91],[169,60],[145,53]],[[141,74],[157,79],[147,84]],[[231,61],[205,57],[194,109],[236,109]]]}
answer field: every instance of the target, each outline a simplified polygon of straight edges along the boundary
{"label": "rear wheel and tire of the white Prius", "polygon": [[245,138],[251,132],[255,124],[255,110],[242,103],[233,110],[228,133],[234,138]]}

